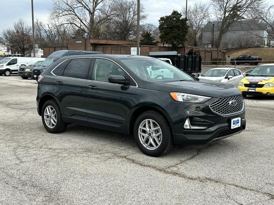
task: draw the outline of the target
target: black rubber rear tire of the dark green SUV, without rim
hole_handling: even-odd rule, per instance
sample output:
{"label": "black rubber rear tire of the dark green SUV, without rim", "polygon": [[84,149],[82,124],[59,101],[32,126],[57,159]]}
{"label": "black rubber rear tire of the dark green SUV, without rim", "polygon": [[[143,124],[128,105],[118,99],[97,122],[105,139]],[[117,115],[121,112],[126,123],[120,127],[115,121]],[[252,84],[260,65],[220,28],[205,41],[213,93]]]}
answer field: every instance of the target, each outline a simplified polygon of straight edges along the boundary
{"label": "black rubber rear tire of the dark green SUV, without rim", "polygon": [[[44,120],[44,111],[47,108],[47,106],[52,106],[55,111],[56,111],[56,125],[53,128],[49,128]],[[60,108],[57,105],[57,103],[55,102],[55,100],[48,100],[47,102],[44,103],[43,107],[42,107],[42,122],[43,125],[45,127],[45,129],[49,132],[49,133],[60,133],[66,130],[67,128],[67,123],[64,123],[62,120],[62,115],[60,112]]]}

